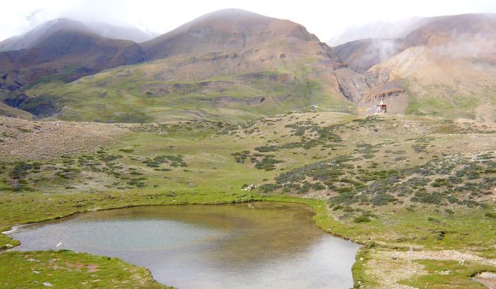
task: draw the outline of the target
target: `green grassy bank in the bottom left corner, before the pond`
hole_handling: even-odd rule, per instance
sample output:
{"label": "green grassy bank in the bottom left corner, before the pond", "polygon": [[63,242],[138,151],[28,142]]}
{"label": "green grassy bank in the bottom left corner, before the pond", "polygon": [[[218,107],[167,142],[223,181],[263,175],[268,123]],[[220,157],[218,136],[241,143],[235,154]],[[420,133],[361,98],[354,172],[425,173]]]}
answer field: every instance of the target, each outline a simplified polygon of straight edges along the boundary
{"label": "green grassy bank in the bottom left corner, before the pond", "polygon": [[171,288],[146,268],[67,250],[7,252],[0,255],[0,269],[2,288]]}

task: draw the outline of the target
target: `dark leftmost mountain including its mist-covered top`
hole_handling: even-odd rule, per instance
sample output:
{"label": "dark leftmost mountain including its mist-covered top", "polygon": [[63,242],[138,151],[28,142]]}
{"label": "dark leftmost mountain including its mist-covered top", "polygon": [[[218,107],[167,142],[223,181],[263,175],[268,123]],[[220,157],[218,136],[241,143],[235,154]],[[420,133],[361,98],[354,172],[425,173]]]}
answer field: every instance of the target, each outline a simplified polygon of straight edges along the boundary
{"label": "dark leftmost mountain including its mist-covered top", "polygon": [[24,35],[0,42],[0,73],[20,86],[30,86],[54,79],[70,82],[109,67],[142,62],[145,55],[141,47],[120,40],[125,35],[147,39],[137,31],[64,18],[47,21]]}

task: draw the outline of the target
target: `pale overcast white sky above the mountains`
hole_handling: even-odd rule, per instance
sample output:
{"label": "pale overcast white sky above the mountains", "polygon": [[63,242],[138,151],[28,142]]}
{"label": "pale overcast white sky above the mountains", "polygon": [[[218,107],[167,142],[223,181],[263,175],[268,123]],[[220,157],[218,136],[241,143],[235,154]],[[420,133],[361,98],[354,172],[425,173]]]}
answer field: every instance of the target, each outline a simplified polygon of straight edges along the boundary
{"label": "pale overcast white sky above the mountains", "polygon": [[103,21],[137,26],[158,33],[223,8],[286,18],[305,26],[320,40],[327,41],[346,28],[378,21],[399,21],[415,16],[460,13],[496,13],[495,0],[16,0],[2,1],[0,40],[20,35],[52,18]]}

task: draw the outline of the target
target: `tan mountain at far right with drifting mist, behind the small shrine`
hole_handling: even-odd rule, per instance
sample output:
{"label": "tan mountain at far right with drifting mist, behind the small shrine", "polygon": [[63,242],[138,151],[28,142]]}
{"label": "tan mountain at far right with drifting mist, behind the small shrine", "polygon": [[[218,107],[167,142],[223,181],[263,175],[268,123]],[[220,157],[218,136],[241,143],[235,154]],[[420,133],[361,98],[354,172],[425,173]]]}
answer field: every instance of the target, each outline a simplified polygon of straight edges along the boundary
{"label": "tan mountain at far right with drifting mist, behind the small shrine", "polygon": [[[334,48],[353,72],[344,95],[393,113],[496,120],[496,15],[424,19],[404,38],[365,39]],[[343,72],[339,72],[343,74]]]}

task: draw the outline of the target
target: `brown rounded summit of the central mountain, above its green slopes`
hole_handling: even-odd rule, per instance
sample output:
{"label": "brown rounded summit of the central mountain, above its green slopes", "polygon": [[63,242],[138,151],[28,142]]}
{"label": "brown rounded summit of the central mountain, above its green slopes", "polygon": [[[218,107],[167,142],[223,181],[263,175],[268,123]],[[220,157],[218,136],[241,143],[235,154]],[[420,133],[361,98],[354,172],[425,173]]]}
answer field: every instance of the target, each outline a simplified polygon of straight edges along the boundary
{"label": "brown rounded summit of the central mountain, above its green slopes", "polygon": [[149,60],[157,60],[171,55],[247,50],[278,40],[319,41],[298,23],[240,9],[223,9],[143,42],[142,46]]}

